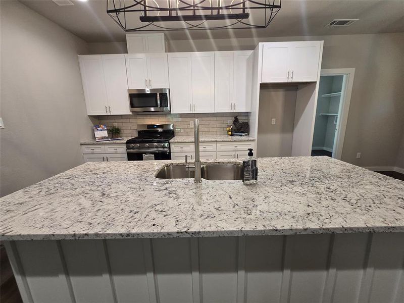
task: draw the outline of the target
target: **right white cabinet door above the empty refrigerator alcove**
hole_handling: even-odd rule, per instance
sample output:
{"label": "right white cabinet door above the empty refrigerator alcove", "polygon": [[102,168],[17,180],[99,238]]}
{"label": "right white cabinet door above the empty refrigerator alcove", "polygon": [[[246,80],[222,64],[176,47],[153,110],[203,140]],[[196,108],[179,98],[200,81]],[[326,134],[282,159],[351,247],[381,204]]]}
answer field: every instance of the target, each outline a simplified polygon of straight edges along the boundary
{"label": "right white cabinet door above the empty refrigerator alcove", "polygon": [[292,42],[290,47],[290,81],[317,81],[320,41]]}

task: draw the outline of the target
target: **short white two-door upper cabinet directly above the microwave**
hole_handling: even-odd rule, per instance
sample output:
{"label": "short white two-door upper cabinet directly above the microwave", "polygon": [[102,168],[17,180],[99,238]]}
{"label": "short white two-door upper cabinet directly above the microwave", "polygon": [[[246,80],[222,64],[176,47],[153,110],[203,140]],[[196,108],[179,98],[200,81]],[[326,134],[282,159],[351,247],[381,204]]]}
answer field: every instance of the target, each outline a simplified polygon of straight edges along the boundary
{"label": "short white two-door upper cabinet directly above the microwave", "polygon": [[128,88],[169,88],[167,53],[128,54]]}

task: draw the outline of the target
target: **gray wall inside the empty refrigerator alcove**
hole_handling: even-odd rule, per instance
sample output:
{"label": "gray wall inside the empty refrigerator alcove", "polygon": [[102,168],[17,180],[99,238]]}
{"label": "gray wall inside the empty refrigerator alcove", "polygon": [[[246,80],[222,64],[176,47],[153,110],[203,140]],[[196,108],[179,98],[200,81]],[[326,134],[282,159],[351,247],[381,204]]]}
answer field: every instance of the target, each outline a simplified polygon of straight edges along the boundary
{"label": "gray wall inside the empty refrigerator alcove", "polygon": [[[260,157],[290,157],[296,85],[266,85],[260,87],[257,154]],[[276,119],[276,124],[271,122]]]}

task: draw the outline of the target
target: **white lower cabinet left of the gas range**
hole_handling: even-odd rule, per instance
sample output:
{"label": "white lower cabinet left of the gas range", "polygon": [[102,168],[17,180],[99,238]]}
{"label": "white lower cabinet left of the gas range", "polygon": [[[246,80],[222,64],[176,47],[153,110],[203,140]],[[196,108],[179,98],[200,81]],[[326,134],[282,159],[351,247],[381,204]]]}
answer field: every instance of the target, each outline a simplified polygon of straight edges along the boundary
{"label": "white lower cabinet left of the gas range", "polygon": [[128,161],[125,144],[82,145],[84,163]]}

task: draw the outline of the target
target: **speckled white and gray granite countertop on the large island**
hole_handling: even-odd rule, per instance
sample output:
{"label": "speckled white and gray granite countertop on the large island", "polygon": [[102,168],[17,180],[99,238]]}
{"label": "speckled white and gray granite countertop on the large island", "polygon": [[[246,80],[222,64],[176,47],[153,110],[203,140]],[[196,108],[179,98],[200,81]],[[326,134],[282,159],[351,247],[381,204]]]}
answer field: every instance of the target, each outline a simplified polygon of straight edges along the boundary
{"label": "speckled white and gray granite countertop on the large island", "polygon": [[404,231],[404,182],[329,157],[259,159],[249,186],[155,178],[176,163],[88,162],[4,196],[1,238]]}

